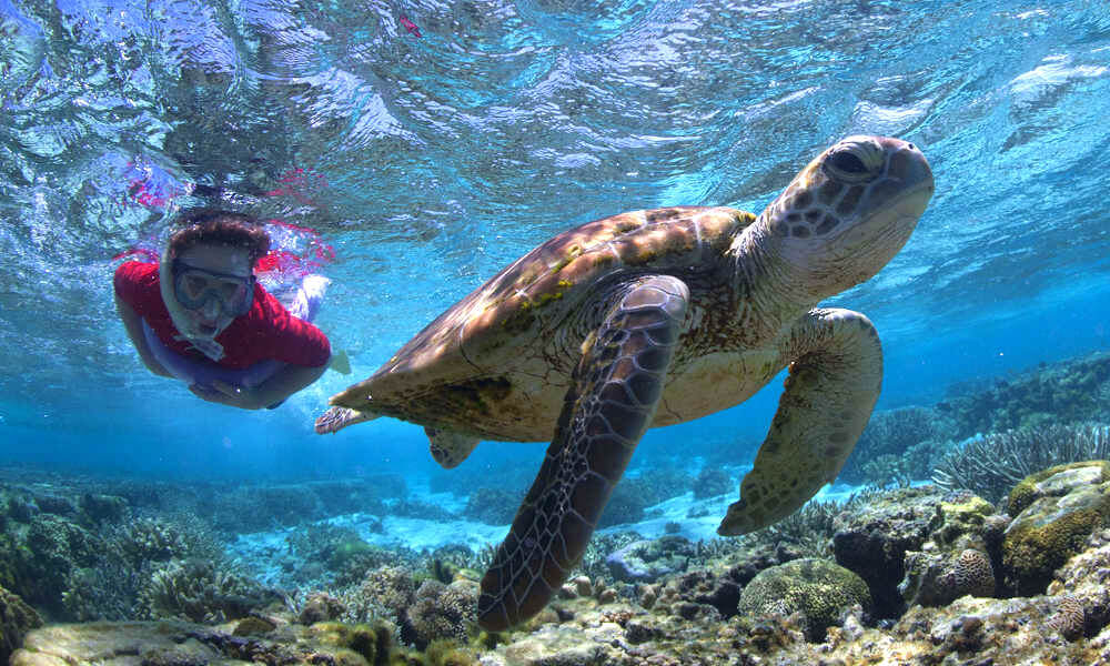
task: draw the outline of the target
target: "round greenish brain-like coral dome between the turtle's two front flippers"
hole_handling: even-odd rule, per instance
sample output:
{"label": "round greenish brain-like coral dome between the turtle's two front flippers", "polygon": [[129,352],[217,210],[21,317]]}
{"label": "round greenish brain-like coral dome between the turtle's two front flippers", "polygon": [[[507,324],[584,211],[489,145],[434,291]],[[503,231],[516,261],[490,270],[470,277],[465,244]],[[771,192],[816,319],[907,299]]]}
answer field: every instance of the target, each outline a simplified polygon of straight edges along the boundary
{"label": "round greenish brain-like coral dome between the turtle's two front flippers", "polygon": [[857,605],[865,613],[871,607],[862,578],[827,559],[806,558],[759,572],[740,592],[737,609],[753,616],[800,613],[806,639],[820,642]]}

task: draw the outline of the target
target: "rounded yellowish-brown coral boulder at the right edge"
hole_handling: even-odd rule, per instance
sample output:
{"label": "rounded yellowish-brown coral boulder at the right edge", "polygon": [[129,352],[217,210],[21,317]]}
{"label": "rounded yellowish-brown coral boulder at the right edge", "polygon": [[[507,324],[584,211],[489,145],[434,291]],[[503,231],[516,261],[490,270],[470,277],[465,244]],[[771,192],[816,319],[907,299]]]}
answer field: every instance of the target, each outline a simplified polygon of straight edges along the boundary
{"label": "rounded yellowish-brown coral boulder at the right edge", "polygon": [[1016,515],[1002,541],[1007,584],[1021,595],[1042,593],[1092,533],[1110,526],[1110,463],[1072,463],[1033,474],[1010,492],[1009,507]]}

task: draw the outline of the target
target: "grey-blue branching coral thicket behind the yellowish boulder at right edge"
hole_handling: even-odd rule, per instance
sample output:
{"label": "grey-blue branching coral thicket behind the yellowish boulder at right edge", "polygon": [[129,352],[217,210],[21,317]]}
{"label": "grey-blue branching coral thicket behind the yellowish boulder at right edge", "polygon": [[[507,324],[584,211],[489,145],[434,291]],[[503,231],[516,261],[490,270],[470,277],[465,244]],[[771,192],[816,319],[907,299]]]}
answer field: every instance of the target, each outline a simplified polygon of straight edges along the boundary
{"label": "grey-blue branching coral thicket behind the yellowish boulder at right edge", "polygon": [[1053,465],[1110,457],[1110,425],[1022,427],[969,440],[946,455],[932,481],[998,502],[1026,476]]}

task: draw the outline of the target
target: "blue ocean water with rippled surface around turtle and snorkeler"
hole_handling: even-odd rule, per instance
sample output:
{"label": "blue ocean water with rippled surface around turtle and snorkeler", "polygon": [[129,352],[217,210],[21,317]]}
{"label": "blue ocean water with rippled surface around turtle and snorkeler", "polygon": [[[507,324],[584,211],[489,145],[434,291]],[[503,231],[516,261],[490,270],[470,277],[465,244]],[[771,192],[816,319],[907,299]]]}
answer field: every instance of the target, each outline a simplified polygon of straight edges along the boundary
{"label": "blue ocean water with rippled surface around turtle and snorkeler", "polygon": [[[758,212],[861,132],[920,145],[937,182],[902,252],[831,300],[879,330],[880,408],[1103,350],[1108,100],[1093,0],[0,0],[0,462],[432,474],[417,426],[320,437],[312,420],[551,235],[640,208]],[[248,413],[142,367],[113,256],[221,201],[334,248],[317,323],[351,375]],[[754,455],[780,386],[648,433],[642,460],[737,438]],[[465,465],[544,448],[487,443]]]}

